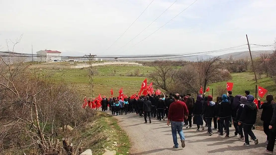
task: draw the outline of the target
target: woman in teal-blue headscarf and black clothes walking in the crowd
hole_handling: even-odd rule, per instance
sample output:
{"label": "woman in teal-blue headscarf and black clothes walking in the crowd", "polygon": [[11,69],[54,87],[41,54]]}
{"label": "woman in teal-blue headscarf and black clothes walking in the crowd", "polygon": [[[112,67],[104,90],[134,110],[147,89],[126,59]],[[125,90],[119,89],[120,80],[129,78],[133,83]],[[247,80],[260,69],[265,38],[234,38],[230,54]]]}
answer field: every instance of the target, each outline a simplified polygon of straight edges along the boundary
{"label": "woman in teal-blue headscarf and black clothes walking in the crowd", "polygon": [[231,118],[231,103],[227,98],[226,94],[222,95],[222,102],[220,103],[219,114],[217,116],[217,120],[219,120],[220,124],[220,134],[219,136],[223,136],[223,124],[225,124],[226,136],[225,138],[229,138],[229,120]]}

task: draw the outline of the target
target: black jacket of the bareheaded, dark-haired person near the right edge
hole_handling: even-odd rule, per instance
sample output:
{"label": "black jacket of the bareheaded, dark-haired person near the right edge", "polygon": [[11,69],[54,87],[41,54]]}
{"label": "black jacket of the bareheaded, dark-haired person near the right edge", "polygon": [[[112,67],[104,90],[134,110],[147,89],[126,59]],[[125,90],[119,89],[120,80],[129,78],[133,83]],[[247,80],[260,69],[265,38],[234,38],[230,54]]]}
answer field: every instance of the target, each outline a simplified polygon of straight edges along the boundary
{"label": "black jacket of the bareheaded, dark-haired person near the right edge", "polygon": [[261,105],[261,101],[258,101],[259,109],[262,109],[261,121],[270,122],[273,115],[274,105],[271,102],[265,102]]}

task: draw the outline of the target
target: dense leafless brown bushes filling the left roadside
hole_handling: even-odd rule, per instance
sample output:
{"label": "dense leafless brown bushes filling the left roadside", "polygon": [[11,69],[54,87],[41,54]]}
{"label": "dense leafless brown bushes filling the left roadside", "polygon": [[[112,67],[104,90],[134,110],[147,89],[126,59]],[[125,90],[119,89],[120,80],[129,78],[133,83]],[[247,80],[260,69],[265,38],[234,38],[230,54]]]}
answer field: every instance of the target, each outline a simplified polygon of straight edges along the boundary
{"label": "dense leafless brown bushes filling the left roadside", "polygon": [[1,154],[73,154],[72,144],[60,140],[59,128],[77,128],[93,115],[81,109],[75,86],[2,57],[0,68]]}

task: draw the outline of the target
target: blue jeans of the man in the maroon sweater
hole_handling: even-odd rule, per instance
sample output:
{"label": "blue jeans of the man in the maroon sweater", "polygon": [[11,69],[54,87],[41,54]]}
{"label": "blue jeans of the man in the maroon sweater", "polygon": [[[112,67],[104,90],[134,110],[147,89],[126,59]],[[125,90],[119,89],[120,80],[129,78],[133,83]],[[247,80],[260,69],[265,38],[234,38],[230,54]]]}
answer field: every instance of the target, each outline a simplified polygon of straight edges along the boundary
{"label": "blue jeans of the man in the maroon sweater", "polygon": [[171,128],[172,128],[172,140],[174,143],[174,146],[178,148],[178,143],[177,143],[177,135],[176,133],[178,132],[179,137],[181,140],[185,140],[185,135],[184,132],[182,131],[182,127],[184,125],[184,122],[175,122],[171,121]]}

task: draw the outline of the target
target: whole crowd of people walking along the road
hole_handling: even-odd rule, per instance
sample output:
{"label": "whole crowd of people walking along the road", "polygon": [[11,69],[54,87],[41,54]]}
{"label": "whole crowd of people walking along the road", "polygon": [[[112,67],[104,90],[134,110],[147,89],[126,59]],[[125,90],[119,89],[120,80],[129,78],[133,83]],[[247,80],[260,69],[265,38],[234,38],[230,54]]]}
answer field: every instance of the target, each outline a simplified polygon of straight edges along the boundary
{"label": "whole crowd of people walking along the road", "polygon": [[[196,131],[204,130],[207,127],[209,136],[214,134],[213,130],[217,130],[219,136],[224,136],[225,133],[225,138],[230,137],[229,127],[233,124],[235,128],[234,136],[239,135],[239,140],[244,140],[245,146],[250,146],[249,137],[254,141],[254,144],[259,143],[252,129],[256,123],[257,111],[262,109],[261,121],[263,121],[263,130],[267,137],[265,142],[267,144],[266,152],[272,154],[276,138],[276,106],[274,106],[275,102],[272,95],[267,95],[266,100],[263,103],[258,99],[258,104],[255,104],[254,96],[250,95],[250,91],[245,91],[245,96],[232,96],[232,91],[228,91],[221,97],[217,97],[216,102],[213,101],[211,95],[205,97],[198,95],[194,99],[191,94],[169,94],[169,96],[165,96],[163,93],[162,95],[152,94],[132,99],[130,97],[109,97],[108,99],[103,97],[100,99],[88,99],[87,101],[85,98],[83,108],[88,106],[99,109],[101,107],[102,111],[106,111],[109,107],[112,115],[116,116],[136,113],[136,115],[144,117],[145,123],[148,121],[152,123],[152,118],[158,121],[165,121],[165,118],[168,118],[168,125],[170,122],[177,123],[179,121],[180,124],[182,123],[183,128],[191,129],[192,124],[195,124],[197,126]],[[178,105],[177,108],[172,108],[172,104],[179,104],[182,107],[180,106],[179,108]],[[176,115],[173,110],[179,112],[179,109],[181,109],[180,115],[172,118],[172,113]],[[177,121],[172,121],[172,119]],[[180,135],[182,147],[185,147],[182,127],[181,129],[173,129],[172,127],[174,148],[178,148],[176,131]]]}

